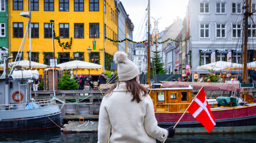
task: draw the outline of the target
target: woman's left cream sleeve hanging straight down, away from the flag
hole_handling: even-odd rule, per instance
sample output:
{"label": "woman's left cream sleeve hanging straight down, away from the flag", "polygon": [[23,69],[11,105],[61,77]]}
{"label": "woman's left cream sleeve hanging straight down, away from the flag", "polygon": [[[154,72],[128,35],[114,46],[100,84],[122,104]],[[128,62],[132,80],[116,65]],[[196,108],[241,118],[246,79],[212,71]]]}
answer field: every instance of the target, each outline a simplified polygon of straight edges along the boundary
{"label": "woman's left cream sleeve hanging straight down, away from the flag", "polygon": [[107,111],[106,101],[102,99],[99,109],[98,143],[108,143],[110,136],[110,120]]}

